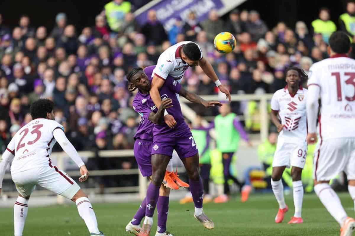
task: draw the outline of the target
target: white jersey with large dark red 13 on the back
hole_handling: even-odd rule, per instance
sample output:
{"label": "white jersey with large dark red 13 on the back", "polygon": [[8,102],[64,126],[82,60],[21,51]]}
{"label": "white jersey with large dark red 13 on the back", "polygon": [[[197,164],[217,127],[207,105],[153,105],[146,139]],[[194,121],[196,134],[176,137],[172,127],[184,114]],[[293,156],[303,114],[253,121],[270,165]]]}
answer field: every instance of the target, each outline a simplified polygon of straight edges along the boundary
{"label": "white jersey with large dark red 13 on the back", "polygon": [[355,60],[340,55],[313,64],[310,85],[321,88],[321,138],[355,137]]}

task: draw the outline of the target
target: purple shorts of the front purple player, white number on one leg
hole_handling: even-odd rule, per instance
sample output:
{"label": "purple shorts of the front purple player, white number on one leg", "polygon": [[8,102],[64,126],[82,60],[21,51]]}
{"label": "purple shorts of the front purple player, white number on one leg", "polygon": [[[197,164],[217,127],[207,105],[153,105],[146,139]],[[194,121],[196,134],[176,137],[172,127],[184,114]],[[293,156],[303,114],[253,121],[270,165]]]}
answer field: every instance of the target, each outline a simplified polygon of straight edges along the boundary
{"label": "purple shorts of the front purple player, white number on one leg", "polygon": [[197,146],[190,130],[185,132],[181,137],[154,135],[152,155],[163,154],[172,156],[174,149],[180,159],[198,154]]}

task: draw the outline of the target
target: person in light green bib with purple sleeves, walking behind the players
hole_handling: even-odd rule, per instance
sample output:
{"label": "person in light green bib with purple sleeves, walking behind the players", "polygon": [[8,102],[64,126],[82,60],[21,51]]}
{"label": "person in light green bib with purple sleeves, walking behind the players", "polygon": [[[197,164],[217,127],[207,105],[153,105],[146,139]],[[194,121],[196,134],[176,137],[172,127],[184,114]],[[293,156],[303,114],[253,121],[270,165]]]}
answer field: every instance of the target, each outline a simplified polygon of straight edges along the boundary
{"label": "person in light green bib with purple sleeves, walking behind the players", "polygon": [[230,164],[234,153],[238,150],[240,137],[249,146],[252,146],[252,144],[237,115],[231,113],[228,103],[224,103],[222,107],[219,107],[219,115],[215,117],[210,127],[215,128],[217,149],[222,152],[224,175],[224,194],[215,198],[214,202],[226,202],[228,201],[228,194],[230,192],[229,179],[232,179],[239,186],[240,191],[242,191],[243,185],[230,172]]}

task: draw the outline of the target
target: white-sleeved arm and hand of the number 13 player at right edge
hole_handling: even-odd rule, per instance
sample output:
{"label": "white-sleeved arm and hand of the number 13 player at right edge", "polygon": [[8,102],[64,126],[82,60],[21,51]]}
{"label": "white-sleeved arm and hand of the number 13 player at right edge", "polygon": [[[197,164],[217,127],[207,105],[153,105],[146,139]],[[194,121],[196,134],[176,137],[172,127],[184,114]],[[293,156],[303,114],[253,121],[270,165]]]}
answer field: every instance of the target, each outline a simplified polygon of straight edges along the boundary
{"label": "white-sleeved arm and hand of the number 13 player at right edge", "polygon": [[317,115],[318,115],[318,97],[321,88],[317,84],[308,85],[308,94],[306,101],[308,134],[307,143],[313,144],[317,142]]}

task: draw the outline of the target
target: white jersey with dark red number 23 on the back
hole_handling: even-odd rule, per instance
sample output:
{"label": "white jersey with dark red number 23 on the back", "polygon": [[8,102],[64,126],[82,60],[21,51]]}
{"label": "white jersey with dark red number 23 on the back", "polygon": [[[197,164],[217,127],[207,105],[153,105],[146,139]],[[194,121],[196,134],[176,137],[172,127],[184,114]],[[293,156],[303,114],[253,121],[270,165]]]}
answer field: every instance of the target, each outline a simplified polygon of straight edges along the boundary
{"label": "white jersey with dark red number 23 on the back", "polygon": [[11,139],[7,150],[15,158],[11,173],[26,171],[35,167],[50,166],[49,156],[56,143],[53,131],[64,127],[54,120],[35,119],[23,126]]}

